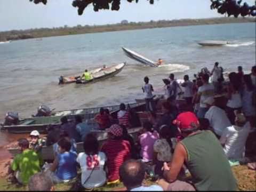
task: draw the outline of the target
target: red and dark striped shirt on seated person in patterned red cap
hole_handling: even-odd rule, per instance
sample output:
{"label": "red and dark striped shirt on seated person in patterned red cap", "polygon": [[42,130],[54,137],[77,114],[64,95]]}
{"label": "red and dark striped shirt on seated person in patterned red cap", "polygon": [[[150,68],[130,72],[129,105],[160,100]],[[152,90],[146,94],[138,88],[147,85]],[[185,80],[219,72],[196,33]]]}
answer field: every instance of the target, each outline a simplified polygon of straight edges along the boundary
{"label": "red and dark striped shirt on seated person in patterned red cap", "polygon": [[102,146],[107,155],[108,181],[119,179],[119,167],[131,158],[131,145],[126,140],[109,140]]}

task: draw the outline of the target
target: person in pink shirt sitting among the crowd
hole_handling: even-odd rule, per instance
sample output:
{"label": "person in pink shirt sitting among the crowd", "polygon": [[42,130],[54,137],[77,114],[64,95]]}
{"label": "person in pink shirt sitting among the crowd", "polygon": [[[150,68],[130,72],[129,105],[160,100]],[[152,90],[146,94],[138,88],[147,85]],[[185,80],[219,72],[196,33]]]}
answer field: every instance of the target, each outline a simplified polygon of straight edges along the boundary
{"label": "person in pink shirt sitting among the crowd", "polygon": [[153,125],[149,121],[144,122],[142,134],[138,137],[141,146],[140,156],[142,157],[142,162],[153,161],[154,143],[157,139],[159,139],[159,134],[157,131],[154,131]]}

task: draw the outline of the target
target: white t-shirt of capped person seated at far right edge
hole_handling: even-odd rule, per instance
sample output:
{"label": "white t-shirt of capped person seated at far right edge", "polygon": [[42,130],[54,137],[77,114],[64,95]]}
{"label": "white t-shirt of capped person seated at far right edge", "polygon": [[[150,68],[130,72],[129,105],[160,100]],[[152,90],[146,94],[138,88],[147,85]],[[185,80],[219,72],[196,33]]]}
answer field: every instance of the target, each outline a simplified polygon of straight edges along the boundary
{"label": "white t-shirt of capped person seated at far right edge", "polygon": [[245,143],[250,129],[250,123],[247,122],[243,127],[232,125],[223,131],[220,142],[225,143],[223,149],[229,159],[240,160],[244,157]]}

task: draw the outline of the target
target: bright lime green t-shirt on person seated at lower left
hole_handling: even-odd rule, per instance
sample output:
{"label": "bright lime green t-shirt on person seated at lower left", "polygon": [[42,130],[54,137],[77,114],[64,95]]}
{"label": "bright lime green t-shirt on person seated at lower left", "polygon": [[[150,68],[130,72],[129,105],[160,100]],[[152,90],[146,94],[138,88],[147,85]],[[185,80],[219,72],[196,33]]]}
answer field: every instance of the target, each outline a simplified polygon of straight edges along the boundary
{"label": "bright lime green t-shirt on person seated at lower left", "polygon": [[14,157],[11,164],[13,171],[20,171],[20,178],[23,184],[27,184],[29,178],[40,172],[39,157],[34,150],[26,149]]}

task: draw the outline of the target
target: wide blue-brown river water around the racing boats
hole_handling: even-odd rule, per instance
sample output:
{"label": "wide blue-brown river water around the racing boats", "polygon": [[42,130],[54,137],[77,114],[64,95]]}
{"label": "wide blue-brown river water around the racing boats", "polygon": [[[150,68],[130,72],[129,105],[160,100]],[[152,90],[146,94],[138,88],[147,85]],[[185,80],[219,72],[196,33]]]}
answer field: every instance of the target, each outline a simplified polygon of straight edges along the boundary
{"label": "wide blue-brown river water around the racing boats", "polygon": [[[202,47],[197,41],[224,40],[222,47]],[[121,47],[169,65],[150,68],[127,58]],[[113,78],[88,85],[58,85],[60,75],[82,73],[103,64],[127,62]],[[45,104],[57,110],[118,105],[142,98],[143,77],[154,87],[163,85],[170,73],[190,77],[219,61],[226,71],[238,65],[250,71],[255,65],[255,23],[205,25],[115,31],[27,39],[0,44],[0,119],[7,111],[28,117]],[[0,133],[0,145],[6,135]]]}

